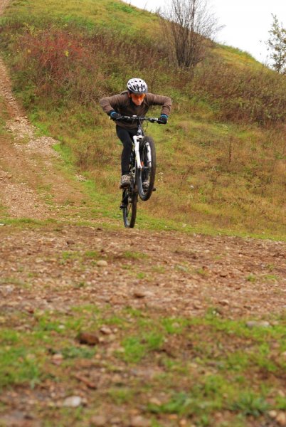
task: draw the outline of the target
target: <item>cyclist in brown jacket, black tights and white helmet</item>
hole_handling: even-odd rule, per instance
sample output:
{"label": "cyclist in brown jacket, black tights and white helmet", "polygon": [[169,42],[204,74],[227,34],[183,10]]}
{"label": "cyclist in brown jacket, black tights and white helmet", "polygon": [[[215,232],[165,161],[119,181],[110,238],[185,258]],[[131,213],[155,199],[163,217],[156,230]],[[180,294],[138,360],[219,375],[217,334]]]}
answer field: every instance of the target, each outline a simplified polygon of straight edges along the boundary
{"label": "cyclist in brown jacket, black tights and white helmet", "polygon": [[[119,95],[103,97],[100,105],[104,112],[115,120],[117,137],[123,144],[121,156],[121,188],[130,185],[129,159],[132,151],[132,137],[137,134],[137,125],[133,122],[122,122],[122,115],[144,116],[152,105],[161,105],[160,123],[166,125],[171,110],[171,98],[154,95],[148,92],[147,83],[141,78],[131,78],[127,82],[127,90]],[[143,183],[146,189],[149,182]]]}

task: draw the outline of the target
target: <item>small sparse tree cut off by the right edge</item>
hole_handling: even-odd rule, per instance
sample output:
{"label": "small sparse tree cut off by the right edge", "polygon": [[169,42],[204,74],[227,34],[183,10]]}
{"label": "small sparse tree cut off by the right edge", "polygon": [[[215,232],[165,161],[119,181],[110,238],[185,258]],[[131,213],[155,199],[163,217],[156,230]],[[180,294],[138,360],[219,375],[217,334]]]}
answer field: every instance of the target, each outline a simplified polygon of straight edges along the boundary
{"label": "small sparse tree cut off by the right edge", "polygon": [[272,15],[273,22],[269,31],[270,38],[266,42],[270,59],[272,59],[272,68],[280,74],[286,74],[286,29],[278,22],[277,16]]}

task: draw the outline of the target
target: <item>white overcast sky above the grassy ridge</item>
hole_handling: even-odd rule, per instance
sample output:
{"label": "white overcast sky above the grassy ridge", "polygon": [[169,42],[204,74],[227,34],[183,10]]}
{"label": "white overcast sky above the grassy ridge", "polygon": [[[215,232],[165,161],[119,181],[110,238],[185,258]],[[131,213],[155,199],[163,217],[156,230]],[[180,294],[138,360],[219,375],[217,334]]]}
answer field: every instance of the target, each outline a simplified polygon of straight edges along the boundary
{"label": "white overcast sky above the grassy ridge", "polygon": [[[125,0],[141,9],[155,11],[170,0]],[[286,0],[207,0],[218,23],[225,27],[216,36],[218,43],[239,48],[265,63],[265,41],[272,25],[272,15],[286,26]]]}

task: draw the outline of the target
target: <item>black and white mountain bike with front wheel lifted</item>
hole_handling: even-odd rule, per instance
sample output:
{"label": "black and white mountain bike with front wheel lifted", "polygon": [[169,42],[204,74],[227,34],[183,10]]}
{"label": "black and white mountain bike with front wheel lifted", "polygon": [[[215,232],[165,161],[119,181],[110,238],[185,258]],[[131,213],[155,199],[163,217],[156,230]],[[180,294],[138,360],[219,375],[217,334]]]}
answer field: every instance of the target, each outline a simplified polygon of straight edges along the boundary
{"label": "black and white mountain bike with front wheel lifted", "polygon": [[[122,191],[123,222],[125,227],[133,228],[137,214],[138,195],[147,201],[154,191],[156,174],[156,150],[152,137],[146,137],[143,122],[161,123],[157,117],[122,116],[120,120],[137,122],[137,135],[133,137],[132,152],[129,162],[131,184]],[[149,182],[149,185],[144,183]]]}

